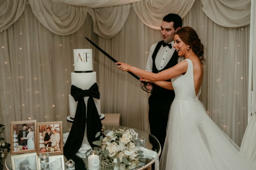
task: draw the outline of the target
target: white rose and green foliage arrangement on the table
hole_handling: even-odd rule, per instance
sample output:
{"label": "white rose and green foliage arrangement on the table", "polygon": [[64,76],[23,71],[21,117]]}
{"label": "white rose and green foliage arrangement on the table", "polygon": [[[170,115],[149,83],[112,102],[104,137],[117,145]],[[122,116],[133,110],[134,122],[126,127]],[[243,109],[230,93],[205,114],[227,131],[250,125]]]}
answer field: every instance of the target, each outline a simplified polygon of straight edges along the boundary
{"label": "white rose and green foliage arrangement on the table", "polygon": [[[102,136],[100,136],[102,134]],[[145,165],[143,151],[140,150],[140,142],[138,141],[138,133],[134,129],[104,130],[96,134],[99,141],[93,144],[102,149],[102,164],[120,164],[123,162],[130,165],[131,162]]]}

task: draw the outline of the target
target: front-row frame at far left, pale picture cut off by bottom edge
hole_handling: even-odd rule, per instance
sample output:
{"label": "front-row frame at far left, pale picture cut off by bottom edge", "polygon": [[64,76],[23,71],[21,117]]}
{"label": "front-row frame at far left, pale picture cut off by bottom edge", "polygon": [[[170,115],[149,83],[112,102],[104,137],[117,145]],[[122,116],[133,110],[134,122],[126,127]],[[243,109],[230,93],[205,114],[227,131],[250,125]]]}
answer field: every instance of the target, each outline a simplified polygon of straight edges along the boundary
{"label": "front-row frame at far left, pale picture cut off by bottom edge", "polygon": [[36,152],[12,155],[12,170],[38,170]]}

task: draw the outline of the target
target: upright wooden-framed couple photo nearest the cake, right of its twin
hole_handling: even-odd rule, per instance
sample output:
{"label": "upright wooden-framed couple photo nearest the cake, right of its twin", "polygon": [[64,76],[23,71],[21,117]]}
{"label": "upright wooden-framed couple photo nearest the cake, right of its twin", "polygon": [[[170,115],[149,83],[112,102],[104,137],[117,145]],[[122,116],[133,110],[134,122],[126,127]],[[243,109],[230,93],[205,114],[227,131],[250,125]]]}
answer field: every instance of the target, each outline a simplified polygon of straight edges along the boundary
{"label": "upright wooden-framed couple photo nearest the cake, right of its twin", "polygon": [[37,154],[63,154],[62,121],[37,123]]}

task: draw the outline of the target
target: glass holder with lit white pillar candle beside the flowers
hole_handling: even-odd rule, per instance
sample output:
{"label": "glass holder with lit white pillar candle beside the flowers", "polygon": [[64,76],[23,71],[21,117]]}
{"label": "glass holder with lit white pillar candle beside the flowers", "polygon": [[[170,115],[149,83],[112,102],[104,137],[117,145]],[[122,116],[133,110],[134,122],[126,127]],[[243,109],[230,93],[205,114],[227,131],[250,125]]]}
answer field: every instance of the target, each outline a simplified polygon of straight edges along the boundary
{"label": "glass holder with lit white pillar candle beside the flowers", "polygon": [[94,147],[87,150],[86,156],[86,169],[87,170],[100,170],[102,164],[102,150]]}

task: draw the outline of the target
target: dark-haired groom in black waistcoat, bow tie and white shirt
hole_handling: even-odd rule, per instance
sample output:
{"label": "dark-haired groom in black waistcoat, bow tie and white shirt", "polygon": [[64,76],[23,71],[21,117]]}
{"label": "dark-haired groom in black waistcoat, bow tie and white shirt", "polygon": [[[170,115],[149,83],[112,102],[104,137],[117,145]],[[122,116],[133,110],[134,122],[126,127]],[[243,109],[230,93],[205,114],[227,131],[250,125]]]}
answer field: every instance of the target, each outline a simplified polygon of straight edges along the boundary
{"label": "dark-haired groom in black waistcoat, bow tie and white shirt", "polygon": [[[145,69],[146,71],[159,73],[160,71],[164,71],[175,66],[178,60],[182,60],[178,57],[175,48],[172,47],[174,44],[174,34],[181,27],[182,19],[179,15],[167,14],[163,17],[161,24],[161,35],[163,40],[151,45],[148,55],[148,63]],[[149,85],[147,89],[151,90],[152,87],[153,90],[148,99],[150,133],[158,139],[163,149],[169,111],[172,101],[175,98],[175,93],[174,91],[161,88],[155,84]]]}

